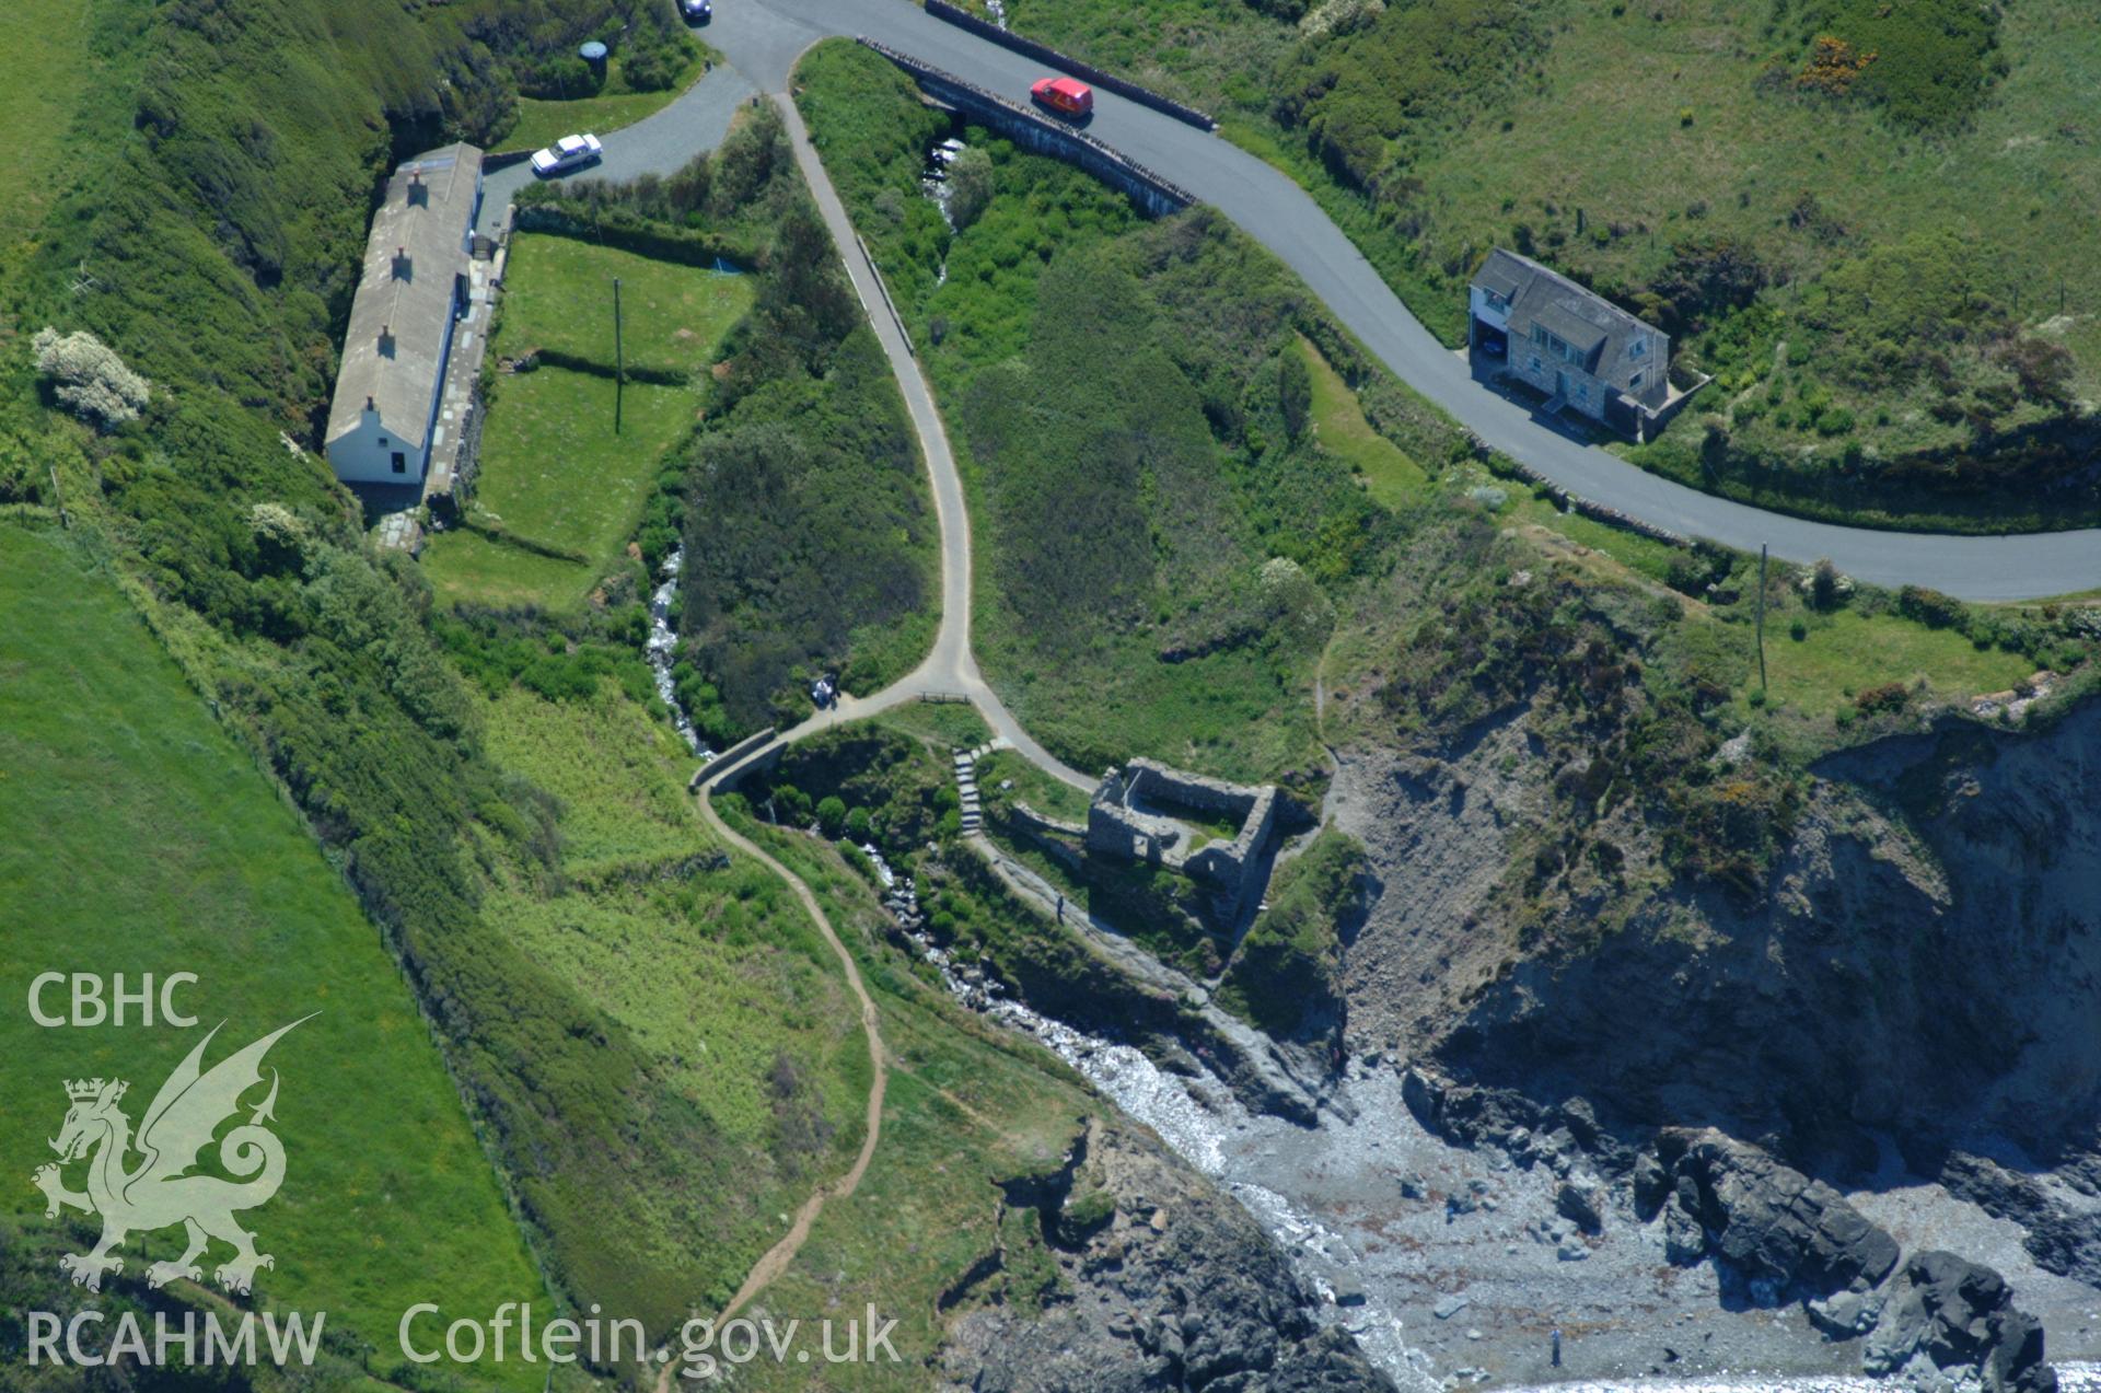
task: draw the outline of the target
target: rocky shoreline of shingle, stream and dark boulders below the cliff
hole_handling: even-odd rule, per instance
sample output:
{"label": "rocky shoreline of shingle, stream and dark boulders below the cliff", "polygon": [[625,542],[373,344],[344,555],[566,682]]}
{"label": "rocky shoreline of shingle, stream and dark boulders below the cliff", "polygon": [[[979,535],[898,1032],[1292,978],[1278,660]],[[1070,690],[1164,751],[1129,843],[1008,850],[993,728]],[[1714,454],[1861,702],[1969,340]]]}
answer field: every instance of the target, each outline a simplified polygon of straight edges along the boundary
{"label": "rocky shoreline of shingle, stream and dark boulders below the cliff", "polygon": [[[1317,1324],[1410,1393],[2095,1387],[2101,1292],[2076,1280],[2097,1250],[2090,1214],[2051,1172],[1943,1151],[1912,1174],[1891,1139],[1861,1132],[1866,1164],[1855,1147],[1840,1189],[1721,1130],[1620,1132],[1580,1099],[1454,1086],[1361,1038],[1343,1074],[1275,1109],[1206,1067],[1214,1048],[1177,1051],[1172,1030],[1141,1053],[998,983],[952,987],[1050,1044],[1237,1198],[1290,1259],[1288,1305],[1317,1301]],[[1086,1290],[1107,1309],[1130,1296]],[[1084,1322],[1063,1338],[1143,1351]],[[2044,1349],[2072,1361],[2063,1378]],[[1008,1374],[1000,1387],[1050,1387]]]}

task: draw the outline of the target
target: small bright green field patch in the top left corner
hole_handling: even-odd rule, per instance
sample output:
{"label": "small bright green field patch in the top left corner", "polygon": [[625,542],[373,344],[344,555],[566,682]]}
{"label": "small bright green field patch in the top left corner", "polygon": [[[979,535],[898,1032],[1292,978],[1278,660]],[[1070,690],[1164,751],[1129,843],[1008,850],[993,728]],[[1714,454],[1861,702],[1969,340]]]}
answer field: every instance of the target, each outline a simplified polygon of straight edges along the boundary
{"label": "small bright green field patch in the top left corner", "polygon": [[[65,141],[86,90],[90,11],[69,0],[0,6],[0,130],[8,132],[8,197],[0,202],[0,256],[27,235],[65,187]],[[6,265],[0,261],[0,265]]]}

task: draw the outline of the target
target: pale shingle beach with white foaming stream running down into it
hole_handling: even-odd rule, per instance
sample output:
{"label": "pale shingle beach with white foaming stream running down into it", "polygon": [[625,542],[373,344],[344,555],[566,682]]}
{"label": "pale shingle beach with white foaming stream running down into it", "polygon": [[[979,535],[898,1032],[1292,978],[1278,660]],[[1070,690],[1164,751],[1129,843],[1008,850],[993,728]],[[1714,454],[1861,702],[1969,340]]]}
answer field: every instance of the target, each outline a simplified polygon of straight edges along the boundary
{"label": "pale shingle beach with white foaming stream running down into it", "polygon": [[[1555,1212],[1555,1172],[1427,1132],[1408,1111],[1393,1067],[1353,1059],[1334,1088],[1340,1105],[1324,1109],[1317,1128],[1303,1128],[1250,1111],[1202,1067],[1191,1078],[1168,1074],[1130,1044],[1013,1000],[981,969],[958,964],[937,945],[912,882],[876,847],[864,851],[889,912],[948,992],[1042,1042],[1246,1206],[1324,1296],[1313,1317],[1349,1330],[1403,1393],[1908,1387],[1861,1376],[1859,1347],[1824,1340],[1798,1307],[1729,1309],[1712,1265],[1670,1269],[1658,1225],[1643,1225],[1624,1196],[1607,1214],[1607,1238],[1572,1261],[1565,1221]],[[1964,1246],[1990,1246],[1994,1233],[2017,1244],[2017,1231],[1996,1231],[1994,1221],[1967,1214],[1960,1202],[1929,1206],[1964,1229]],[[1988,1256],[2006,1263],[2004,1252]],[[1662,1271],[1672,1273],[1668,1282]],[[2101,1322],[2101,1313],[2086,1311],[2101,1296],[2034,1271],[2021,1288],[2053,1311],[2053,1340],[2072,1336],[2072,1353],[2090,1357],[2082,1317]],[[1548,1361],[1546,1338],[1557,1328],[1567,1332],[1559,1366]],[[2059,1359],[2057,1370],[2067,1393],[2101,1393],[2101,1364]]]}

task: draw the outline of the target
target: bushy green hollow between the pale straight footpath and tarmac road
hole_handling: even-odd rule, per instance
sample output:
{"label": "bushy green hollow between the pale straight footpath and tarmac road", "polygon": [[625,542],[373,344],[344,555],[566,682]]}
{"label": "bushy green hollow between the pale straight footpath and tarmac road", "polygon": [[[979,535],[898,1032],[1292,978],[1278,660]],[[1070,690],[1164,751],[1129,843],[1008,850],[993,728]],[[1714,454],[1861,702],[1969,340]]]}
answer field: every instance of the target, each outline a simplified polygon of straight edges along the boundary
{"label": "bushy green hollow between the pale straight footpath and tarmac road", "polygon": [[[950,240],[916,191],[933,124],[895,74],[826,44],[798,78],[813,141],[838,170],[950,416],[990,557],[977,567],[979,658],[1015,714],[1082,767],[1147,752],[1267,775],[1309,761],[1311,664],[1275,651],[1261,618],[1242,626],[1237,616],[1254,605],[1254,574],[1273,548],[1315,546],[1340,466],[1305,464],[1315,471],[1301,494],[1311,523],[1290,517],[1269,523],[1277,536],[1256,536],[1237,500],[1212,485],[1227,473],[1261,492],[1258,475],[1223,458],[1246,441],[1212,437],[1195,384],[1237,397],[1265,353],[1284,351],[1290,290],[1275,267],[1242,244],[1172,254],[1143,244],[1128,204],[1004,143],[990,145],[998,197]],[[1214,261],[1198,271],[1181,256]],[[1206,275],[1244,288],[1248,324],[1216,330],[1216,307],[1200,307],[1204,290],[1191,284]],[[1042,290],[1046,282],[1055,288]],[[1072,296],[1088,307],[1074,309]],[[1177,328],[1158,328],[1168,319]],[[1185,349],[1193,357],[1177,361]],[[1120,439],[1128,450],[1109,445]],[[1275,511],[1273,498],[1258,504]],[[1301,525],[1305,534],[1284,536]],[[1061,603],[1044,599],[1050,578]],[[1210,651],[1160,656],[1204,647],[1185,643],[1187,632],[1235,626],[1240,639]]]}

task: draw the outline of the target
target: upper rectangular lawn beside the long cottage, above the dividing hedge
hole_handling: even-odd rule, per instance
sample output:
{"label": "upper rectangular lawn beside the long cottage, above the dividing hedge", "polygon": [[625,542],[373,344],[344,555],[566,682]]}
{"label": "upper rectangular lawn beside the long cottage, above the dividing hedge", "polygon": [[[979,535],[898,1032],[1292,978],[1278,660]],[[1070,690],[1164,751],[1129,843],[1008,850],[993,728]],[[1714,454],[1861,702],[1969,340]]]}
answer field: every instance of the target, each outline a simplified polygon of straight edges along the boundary
{"label": "upper rectangular lawn beside the long cottage, above the dividing hedge", "polygon": [[613,277],[630,368],[698,374],[752,307],[750,275],[702,271],[576,237],[519,233],[504,267],[496,351],[561,349],[613,366]]}

